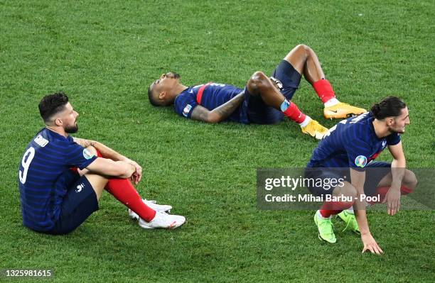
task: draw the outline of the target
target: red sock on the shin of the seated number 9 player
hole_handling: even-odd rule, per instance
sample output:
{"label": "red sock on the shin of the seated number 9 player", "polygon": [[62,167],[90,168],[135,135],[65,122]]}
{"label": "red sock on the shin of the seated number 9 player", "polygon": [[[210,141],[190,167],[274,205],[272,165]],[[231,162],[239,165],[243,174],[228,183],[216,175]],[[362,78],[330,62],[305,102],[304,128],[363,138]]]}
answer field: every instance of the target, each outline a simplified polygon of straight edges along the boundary
{"label": "red sock on the shin of the seated number 9 player", "polygon": [[[98,150],[97,156],[102,157],[101,152]],[[104,189],[112,194],[117,200],[121,201],[122,204],[136,212],[140,218],[144,219],[144,221],[149,222],[153,220],[154,216],[156,216],[156,211],[144,204],[141,196],[139,196],[136,189],[134,189],[128,179],[109,179],[109,182],[107,182]]]}

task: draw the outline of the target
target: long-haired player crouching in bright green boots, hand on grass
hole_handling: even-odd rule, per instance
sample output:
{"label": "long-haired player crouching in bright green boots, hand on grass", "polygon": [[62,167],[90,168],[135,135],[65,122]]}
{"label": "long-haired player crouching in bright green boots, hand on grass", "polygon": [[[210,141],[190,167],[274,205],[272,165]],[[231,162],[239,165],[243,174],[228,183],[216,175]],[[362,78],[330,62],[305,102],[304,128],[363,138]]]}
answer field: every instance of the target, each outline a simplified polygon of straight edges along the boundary
{"label": "long-haired player crouching in bright green boots, hand on grass", "polygon": [[[378,196],[377,202],[386,203],[387,213],[393,216],[399,210],[401,194],[409,194],[417,187],[415,174],[405,169],[400,140],[407,125],[406,104],[389,96],[372,106],[369,113],[340,121],[318,144],[308,162],[306,177],[325,180],[344,177],[346,181],[333,189],[326,190],[316,184],[308,189],[318,196],[350,197],[345,201],[325,201],[316,211],[314,222],[321,240],[335,243],[331,216],[338,215],[347,224],[346,228],[361,235],[363,253],[365,250],[383,253],[370,233],[364,196]],[[376,162],[375,158],[386,147],[393,157],[392,163]]]}

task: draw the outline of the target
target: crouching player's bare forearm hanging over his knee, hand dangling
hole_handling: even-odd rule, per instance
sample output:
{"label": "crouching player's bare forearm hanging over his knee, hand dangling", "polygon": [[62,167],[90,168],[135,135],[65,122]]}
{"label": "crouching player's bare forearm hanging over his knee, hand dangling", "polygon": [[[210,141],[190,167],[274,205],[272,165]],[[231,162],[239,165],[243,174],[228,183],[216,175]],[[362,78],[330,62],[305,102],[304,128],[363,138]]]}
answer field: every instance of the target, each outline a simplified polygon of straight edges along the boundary
{"label": "crouching player's bare forearm hanging over his knee, hand dangling", "polygon": [[390,150],[393,157],[391,163],[392,184],[383,202],[387,203],[387,213],[394,215],[400,208],[400,187],[402,187],[407,162],[404,157],[402,142],[397,143],[397,145],[389,145],[388,150]]}

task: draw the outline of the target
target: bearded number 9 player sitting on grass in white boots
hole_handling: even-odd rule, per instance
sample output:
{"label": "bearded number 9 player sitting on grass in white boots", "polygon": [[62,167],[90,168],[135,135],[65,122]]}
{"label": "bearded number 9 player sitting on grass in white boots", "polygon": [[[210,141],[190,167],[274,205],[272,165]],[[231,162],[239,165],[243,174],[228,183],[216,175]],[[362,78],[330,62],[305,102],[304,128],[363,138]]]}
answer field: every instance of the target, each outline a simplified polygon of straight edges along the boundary
{"label": "bearded number 9 player sitting on grass in white boots", "polygon": [[[177,228],[186,218],[171,206],[141,199],[130,181],[142,168],[102,143],[71,137],[78,113],[62,92],[44,96],[39,111],[45,128],[28,144],[18,172],[24,226],[62,235],[99,209],[103,189],[125,204],[142,228]],[[133,212],[134,211],[134,212]]]}

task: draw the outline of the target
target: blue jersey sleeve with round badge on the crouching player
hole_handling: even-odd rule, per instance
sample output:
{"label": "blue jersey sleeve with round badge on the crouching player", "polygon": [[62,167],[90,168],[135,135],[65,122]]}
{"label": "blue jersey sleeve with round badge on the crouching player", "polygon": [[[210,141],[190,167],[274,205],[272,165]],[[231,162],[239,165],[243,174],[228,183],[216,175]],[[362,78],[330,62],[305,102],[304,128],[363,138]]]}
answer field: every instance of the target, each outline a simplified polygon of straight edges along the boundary
{"label": "blue jersey sleeve with round badge on the crouching player", "polygon": [[367,165],[368,158],[370,157],[370,145],[365,142],[365,140],[355,138],[345,144],[345,150],[348,154],[349,167],[358,171],[363,171],[363,168]]}

